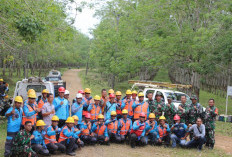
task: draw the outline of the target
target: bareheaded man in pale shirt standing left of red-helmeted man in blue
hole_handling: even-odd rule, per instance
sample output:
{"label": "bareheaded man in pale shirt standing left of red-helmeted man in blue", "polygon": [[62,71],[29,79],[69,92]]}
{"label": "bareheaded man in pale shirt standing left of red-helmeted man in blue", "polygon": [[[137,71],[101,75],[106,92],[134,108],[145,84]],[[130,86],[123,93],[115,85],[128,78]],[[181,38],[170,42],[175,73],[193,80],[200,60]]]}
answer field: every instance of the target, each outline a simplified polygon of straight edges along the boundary
{"label": "bareheaded man in pale shirt standing left of red-helmeted man in blue", "polygon": [[45,129],[52,124],[52,117],[55,115],[55,107],[53,105],[54,96],[52,93],[47,94],[47,102],[42,107],[42,116],[46,124]]}

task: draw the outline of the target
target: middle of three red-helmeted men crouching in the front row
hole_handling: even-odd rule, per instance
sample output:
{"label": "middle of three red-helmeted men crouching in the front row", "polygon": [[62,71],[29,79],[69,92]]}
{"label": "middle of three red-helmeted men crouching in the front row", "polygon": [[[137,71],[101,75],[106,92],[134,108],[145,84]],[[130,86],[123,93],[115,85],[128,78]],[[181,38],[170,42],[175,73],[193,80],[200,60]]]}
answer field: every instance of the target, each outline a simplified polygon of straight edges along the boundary
{"label": "middle of three red-helmeted men crouching in the front row", "polygon": [[140,145],[147,145],[147,140],[145,137],[146,131],[146,122],[145,122],[145,114],[142,112],[139,115],[139,120],[136,120],[133,124],[133,128],[131,130],[131,148],[135,148],[136,142]]}

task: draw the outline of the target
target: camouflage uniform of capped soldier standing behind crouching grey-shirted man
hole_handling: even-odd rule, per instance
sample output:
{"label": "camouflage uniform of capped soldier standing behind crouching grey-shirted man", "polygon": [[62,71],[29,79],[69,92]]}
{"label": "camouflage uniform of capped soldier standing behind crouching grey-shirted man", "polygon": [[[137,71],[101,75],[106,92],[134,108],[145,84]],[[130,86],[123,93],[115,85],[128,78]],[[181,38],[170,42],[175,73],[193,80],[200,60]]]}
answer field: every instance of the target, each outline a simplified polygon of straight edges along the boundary
{"label": "camouflage uniform of capped soldier standing behind crouching grey-shirted man", "polygon": [[[194,108],[196,106],[196,109]],[[197,118],[202,118],[203,108],[200,103],[191,104],[189,109],[189,124],[195,124]]]}

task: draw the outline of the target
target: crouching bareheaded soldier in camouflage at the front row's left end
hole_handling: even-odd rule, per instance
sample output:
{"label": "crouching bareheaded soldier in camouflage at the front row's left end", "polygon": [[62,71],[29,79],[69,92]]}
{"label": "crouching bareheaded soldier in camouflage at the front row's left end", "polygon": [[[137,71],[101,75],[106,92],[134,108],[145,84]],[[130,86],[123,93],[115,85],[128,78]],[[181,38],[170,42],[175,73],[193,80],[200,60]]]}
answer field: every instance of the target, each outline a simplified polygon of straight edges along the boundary
{"label": "crouching bareheaded soldier in camouflage at the front row's left end", "polygon": [[31,148],[31,139],[34,135],[31,135],[32,122],[26,121],[24,129],[20,130],[12,143],[12,156],[13,157],[37,157],[37,154]]}

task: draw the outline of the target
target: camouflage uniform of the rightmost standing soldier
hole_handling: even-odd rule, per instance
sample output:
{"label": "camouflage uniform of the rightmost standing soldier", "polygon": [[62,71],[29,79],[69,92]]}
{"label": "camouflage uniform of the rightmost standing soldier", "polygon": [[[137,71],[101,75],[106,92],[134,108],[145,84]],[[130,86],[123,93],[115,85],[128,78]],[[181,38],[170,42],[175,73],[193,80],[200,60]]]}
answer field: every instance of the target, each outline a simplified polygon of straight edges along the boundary
{"label": "camouflage uniform of the rightmost standing soldier", "polygon": [[[210,111],[209,111],[210,109]],[[213,148],[215,144],[215,120],[218,115],[218,109],[215,106],[207,107],[204,114],[206,146]]]}

